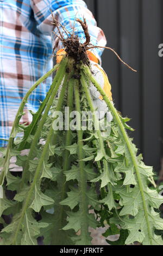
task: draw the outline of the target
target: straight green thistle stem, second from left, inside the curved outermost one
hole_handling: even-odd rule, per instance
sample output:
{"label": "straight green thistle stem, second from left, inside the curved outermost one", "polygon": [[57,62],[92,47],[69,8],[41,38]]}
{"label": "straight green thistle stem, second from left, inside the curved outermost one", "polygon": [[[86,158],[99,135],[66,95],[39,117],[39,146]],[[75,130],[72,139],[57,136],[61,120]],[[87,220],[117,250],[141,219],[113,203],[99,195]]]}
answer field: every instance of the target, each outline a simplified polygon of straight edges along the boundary
{"label": "straight green thistle stem, second from left, inside the curved outermost one", "polygon": [[47,118],[47,115],[48,115],[48,112],[49,112],[49,109],[51,108],[52,106],[52,103],[54,101],[54,98],[55,96],[57,95],[57,92],[58,92],[58,89],[59,89],[59,86],[61,84],[61,81],[62,79],[64,78],[64,75],[65,75],[65,70],[66,70],[66,65],[67,65],[67,59],[64,58],[59,66],[59,70],[57,72],[57,77],[54,78],[53,80],[53,87],[52,87],[52,93],[51,93],[51,96],[49,97],[49,100],[47,102],[47,105],[46,105],[46,108],[45,108],[45,112],[43,113],[42,115],[42,118],[40,120],[40,123],[39,123],[39,126],[37,127],[37,131],[35,133],[35,136],[34,136],[34,139],[33,139],[33,142],[31,144],[31,147],[30,147],[30,151],[29,151],[29,155],[28,155],[28,159],[24,165],[24,168],[23,168],[23,175],[22,175],[22,180],[21,180],[21,184],[20,184],[20,188],[18,191],[21,190],[22,186],[23,186],[23,183],[24,183],[24,180],[26,179],[26,171],[29,167],[29,160],[32,160],[33,157],[34,157],[34,151],[35,151],[35,147],[36,147],[36,144],[37,142],[39,141],[39,138],[40,138],[40,134],[41,134],[41,130],[42,130],[42,127],[43,125],[45,124],[45,121],[46,121],[46,118]]}

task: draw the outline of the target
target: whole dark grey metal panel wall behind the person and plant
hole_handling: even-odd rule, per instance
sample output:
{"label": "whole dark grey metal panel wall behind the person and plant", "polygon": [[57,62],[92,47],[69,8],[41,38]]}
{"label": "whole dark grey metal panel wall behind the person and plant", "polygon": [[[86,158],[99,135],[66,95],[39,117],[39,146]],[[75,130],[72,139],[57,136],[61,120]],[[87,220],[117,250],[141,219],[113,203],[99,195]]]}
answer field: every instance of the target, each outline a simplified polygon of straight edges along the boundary
{"label": "whole dark grey metal panel wall behind the person and plant", "polygon": [[107,45],[137,70],[132,72],[105,50],[102,63],[116,107],[132,118],[134,142],[146,164],[160,168],[162,156],[162,0],[86,0]]}

